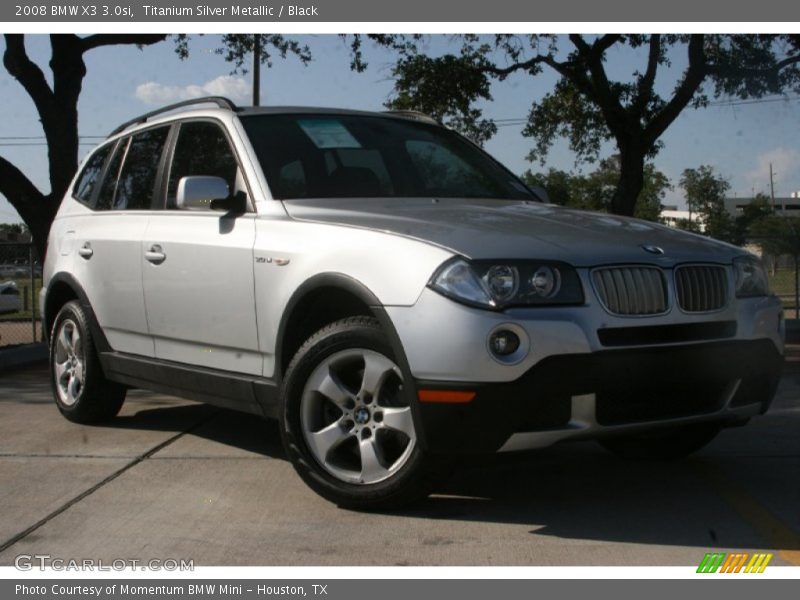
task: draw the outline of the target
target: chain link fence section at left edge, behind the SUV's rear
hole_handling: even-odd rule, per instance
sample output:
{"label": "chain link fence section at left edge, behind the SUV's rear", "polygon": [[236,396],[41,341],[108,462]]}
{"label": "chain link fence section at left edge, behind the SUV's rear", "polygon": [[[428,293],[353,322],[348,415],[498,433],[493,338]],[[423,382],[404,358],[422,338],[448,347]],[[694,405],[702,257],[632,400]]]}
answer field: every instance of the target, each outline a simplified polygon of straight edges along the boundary
{"label": "chain link fence section at left edge, behind the SUV's rear", "polygon": [[42,265],[30,243],[0,242],[0,349],[42,339]]}

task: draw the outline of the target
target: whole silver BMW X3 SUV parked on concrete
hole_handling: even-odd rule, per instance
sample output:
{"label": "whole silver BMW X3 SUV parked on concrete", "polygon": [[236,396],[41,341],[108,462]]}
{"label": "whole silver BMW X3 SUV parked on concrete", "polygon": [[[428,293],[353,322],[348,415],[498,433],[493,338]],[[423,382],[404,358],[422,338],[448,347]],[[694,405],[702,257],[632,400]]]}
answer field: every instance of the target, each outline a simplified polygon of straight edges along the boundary
{"label": "whole silver BMW X3 SUV parked on concrete", "polygon": [[277,418],[306,483],[366,509],[457,456],[678,457],[767,410],[782,312],[743,250],[544,203],[423,115],[188,104],[117,129],[53,223],[68,419],[129,387]]}

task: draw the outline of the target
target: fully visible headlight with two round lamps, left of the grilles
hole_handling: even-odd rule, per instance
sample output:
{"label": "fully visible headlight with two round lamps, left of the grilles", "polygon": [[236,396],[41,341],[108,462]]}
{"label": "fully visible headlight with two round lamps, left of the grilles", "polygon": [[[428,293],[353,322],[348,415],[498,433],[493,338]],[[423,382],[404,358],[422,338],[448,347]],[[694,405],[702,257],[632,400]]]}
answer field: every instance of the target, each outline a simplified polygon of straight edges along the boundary
{"label": "fully visible headlight with two round lamps, left of the grilles", "polygon": [[481,308],[583,304],[577,271],[554,261],[468,261],[455,257],[429,284],[440,294]]}

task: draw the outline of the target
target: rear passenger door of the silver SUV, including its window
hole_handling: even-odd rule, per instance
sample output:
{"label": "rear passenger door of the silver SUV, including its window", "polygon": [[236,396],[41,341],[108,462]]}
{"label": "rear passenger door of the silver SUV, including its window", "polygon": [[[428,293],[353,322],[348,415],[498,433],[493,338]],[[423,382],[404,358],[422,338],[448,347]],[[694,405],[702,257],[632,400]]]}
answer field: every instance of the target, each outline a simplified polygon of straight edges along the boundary
{"label": "rear passenger door of the silver SUV, including its window", "polygon": [[[158,196],[169,133],[169,126],[161,126],[121,139],[105,159],[102,183],[92,195],[93,212],[72,224],[74,274],[119,352],[154,354],[144,311],[142,239]],[[77,195],[85,193],[81,183]]]}

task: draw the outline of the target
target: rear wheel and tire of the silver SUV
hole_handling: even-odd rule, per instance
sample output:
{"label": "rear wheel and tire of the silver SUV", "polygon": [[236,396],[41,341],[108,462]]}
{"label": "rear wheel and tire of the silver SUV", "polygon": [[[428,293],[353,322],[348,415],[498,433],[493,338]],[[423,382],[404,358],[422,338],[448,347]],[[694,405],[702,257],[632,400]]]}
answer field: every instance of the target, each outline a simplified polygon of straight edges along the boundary
{"label": "rear wheel and tire of the silver SUV", "polygon": [[67,302],[50,335],[50,381],[58,410],[75,423],[97,423],[119,413],[126,388],[105,378],[86,311]]}

